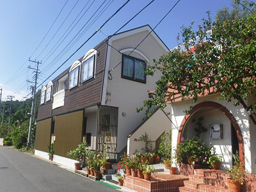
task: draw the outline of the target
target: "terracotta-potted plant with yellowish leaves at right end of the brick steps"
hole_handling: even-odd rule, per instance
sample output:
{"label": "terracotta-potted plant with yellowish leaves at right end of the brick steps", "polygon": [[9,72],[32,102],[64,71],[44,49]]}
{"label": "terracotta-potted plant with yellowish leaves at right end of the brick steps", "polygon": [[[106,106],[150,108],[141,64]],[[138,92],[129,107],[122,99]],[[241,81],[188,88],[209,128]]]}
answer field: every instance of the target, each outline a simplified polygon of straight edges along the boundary
{"label": "terracotta-potted plant with yellowish leaves at right end of the brick steps", "polygon": [[229,174],[228,187],[230,191],[239,192],[241,189],[241,183],[244,182],[246,178],[246,172],[244,170],[243,162],[239,162],[238,152],[236,155],[232,154],[232,156],[234,157],[235,161],[234,166],[227,172]]}

